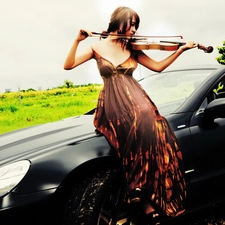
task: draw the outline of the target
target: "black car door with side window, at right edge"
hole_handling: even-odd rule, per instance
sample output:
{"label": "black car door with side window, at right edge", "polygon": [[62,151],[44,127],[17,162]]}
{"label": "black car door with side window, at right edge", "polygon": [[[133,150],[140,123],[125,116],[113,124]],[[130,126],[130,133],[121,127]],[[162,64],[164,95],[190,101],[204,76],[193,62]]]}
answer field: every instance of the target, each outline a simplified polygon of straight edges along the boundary
{"label": "black car door with side window, at right edge", "polygon": [[209,90],[190,126],[194,169],[202,202],[221,200],[225,196],[225,110],[222,116],[212,121],[204,119],[206,107],[219,98],[225,102],[224,77]]}

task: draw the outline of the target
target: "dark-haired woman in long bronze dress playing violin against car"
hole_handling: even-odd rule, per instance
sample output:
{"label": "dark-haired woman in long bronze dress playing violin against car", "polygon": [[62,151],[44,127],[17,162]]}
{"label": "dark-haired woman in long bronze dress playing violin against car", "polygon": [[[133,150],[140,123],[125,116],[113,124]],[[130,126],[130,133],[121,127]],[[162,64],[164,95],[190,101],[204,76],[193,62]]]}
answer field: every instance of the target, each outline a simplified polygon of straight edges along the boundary
{"label": "dark-haired woman in long bronze dress playing violin against car", "polygon": [[104,86],[94,125],[122,159],[130,201],[144,202],[144,211],[151,216],[158,215],[156,210],[166,216],[177,216],[185,209],[186,196],[181,151],[168,122],[132,73],[138,63],[161,72],[197,44],[187,42],[157,62],[143,51],[131,48],[130,37],[136,33],[139,22],[134,10],[118,7],[109,22],[110,35],[78,55],[79,43],[92,36],[90,31],[80,30],[64,69],[73,69],[90,59],[97,61]]}

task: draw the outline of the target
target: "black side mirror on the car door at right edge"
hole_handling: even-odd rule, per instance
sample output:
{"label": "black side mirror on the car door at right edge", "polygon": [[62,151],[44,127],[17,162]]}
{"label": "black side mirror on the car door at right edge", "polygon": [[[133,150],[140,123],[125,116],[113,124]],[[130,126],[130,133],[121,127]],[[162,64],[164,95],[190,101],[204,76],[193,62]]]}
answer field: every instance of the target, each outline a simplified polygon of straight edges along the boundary
{"label": "black side mirror on the car door at right edge", "polygon": [[225,98],[211,101],[204,110],[203,120],[205,122],[213,122],[217,118],[225,118]]}

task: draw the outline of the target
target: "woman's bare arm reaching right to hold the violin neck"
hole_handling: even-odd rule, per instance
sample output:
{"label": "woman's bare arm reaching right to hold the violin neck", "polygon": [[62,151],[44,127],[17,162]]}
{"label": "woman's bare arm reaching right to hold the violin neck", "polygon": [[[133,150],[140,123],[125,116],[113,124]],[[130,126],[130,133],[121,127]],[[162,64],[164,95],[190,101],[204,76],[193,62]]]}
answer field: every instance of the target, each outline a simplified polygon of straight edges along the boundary
{"label": "woman's bare arm reaching right to hold the violin neck", "polygon": [[197,46],[198,44],[194,43],[193,41],[189,41],[185,45],[182,45],[176,52],[159,62],[151,59],[143,51],[137,51],[137,61],[150,70],[153,70],[155,72],[162,72],[169,65],[171,65],[184,51],[196,48]]}

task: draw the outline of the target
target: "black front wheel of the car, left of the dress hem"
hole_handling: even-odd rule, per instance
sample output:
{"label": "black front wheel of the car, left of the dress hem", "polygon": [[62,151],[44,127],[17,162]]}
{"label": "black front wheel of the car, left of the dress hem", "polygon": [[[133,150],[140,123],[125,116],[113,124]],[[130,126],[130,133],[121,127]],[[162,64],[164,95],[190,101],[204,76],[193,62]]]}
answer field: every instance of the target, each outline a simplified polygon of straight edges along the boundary
{"label": "black front wheel of the car, left of the dress hem", "polygon": [[71,193],[64,225],[129,224],[119,170],[107,170],[86,178]]}

